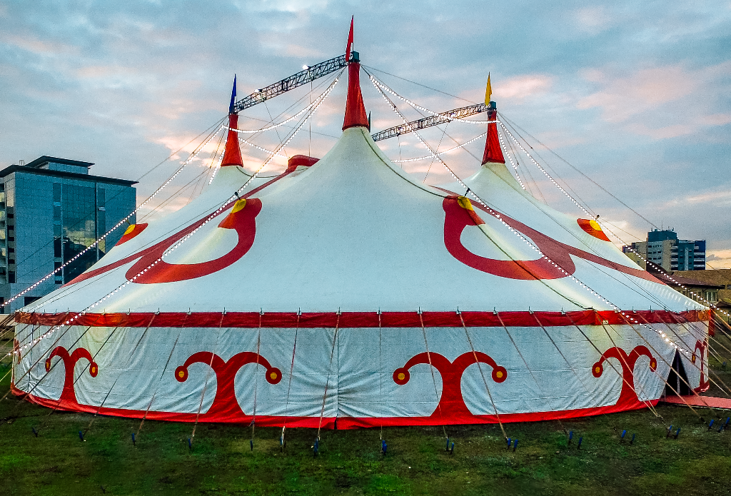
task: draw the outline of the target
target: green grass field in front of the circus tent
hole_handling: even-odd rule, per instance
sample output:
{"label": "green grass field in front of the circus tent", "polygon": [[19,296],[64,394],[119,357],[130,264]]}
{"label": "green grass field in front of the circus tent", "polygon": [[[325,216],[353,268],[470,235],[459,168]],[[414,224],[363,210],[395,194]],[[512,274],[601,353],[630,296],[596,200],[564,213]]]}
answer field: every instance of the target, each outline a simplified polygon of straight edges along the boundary
{"label": "green grass field in front of the circus tent", "polygon": [[442,427],[384,429],[385,456],[378,429],[323,431],[314,457],[315,430],[287,430],[280,452],[281,429],[257,427],[251,451],[251,428],[234,424],[199,424],[189,450],[192,424],[146,421],[133,446],[139,420],[97,417],[82,442],[91,415],[11,395],[0,402],[0,495],[731,495],[731,428],[709,431],[708,410],[704,421],[684,406],[657,411],[505,424],[515,452],[497,425],[446,427],[454,454]]}

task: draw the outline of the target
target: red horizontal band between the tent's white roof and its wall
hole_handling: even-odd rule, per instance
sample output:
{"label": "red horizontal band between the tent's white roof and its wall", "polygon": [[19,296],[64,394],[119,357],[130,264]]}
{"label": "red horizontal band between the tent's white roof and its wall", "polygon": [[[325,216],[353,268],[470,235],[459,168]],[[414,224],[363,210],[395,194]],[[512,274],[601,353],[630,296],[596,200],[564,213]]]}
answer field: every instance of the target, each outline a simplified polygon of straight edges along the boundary
{"label": "red horizontal band between the tent's white roof and its wall", "polygon": [[[708,310],[624,310],[641,323],[683,324],[708,321]],[[627,318],[613,310],[577,312],[220,312],[86,313],[69,321],[71,313],[18,312],[19,324],[41,326],[79,325],[91,327],[545,327],[627,324]],[[339,318],[338,318],[339,317]],[[423,324],[422,324],[423,322]]]}

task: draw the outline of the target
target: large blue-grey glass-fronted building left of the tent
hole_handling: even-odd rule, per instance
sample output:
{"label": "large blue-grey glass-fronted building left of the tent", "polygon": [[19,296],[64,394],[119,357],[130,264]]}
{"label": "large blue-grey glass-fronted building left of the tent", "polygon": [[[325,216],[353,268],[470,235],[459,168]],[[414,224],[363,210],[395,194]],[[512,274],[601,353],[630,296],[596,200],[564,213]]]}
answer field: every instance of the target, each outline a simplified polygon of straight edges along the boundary
{"label": "large blue-grey glass-fronted building left of the tent", "polygon": [[[61,267],[135,210],[137,192],[132,185],[136,181],[90,175],[92,165],[42,156],[0,170],[1,302]],[[135,223],[134,216],[129,222]],[[123,233],[123,228],[115,230],[55,277],[5,307],[3,313],[18,310],[71,281]]]}

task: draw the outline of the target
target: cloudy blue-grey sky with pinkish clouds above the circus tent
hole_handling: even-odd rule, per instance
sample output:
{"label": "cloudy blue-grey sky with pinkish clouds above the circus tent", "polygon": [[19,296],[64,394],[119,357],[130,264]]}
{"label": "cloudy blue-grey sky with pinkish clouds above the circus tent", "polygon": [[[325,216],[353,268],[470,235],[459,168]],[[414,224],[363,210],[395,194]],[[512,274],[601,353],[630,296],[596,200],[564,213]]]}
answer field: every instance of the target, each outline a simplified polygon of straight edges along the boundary
{"label": "cloudy blue-grey sky with pinkish clouds above the circus tent", "polygon": [[[142,202],[224,117],[234,74],[244,96],[338,56],[351,15],[363,65],[394,91],[441,112],[482,101],[490,72],[499,111],[539,162],[626,242],[670,226],[708,240],[713,267],[731,267],[729,1],[0,0],[0,167],[41,155],[92,161],[94,174],[140,179]],[[332,77],[247,110],[240,127],[282,121]],[[362,83],[374,131],[398,124]],[[344,95],[339,84],[283,153],[327,152]],[[252,141],[276,147],[290,124]],[[482,132],[450,123],[424,137],[444,150]],[[445,161],[471,174],[480,141]],[[200,191],[216,143],[156,212]],[[425,155],[413,137],[379,144],[392,159]],[[266,154],[245,148],[247,167],[260,167]],[[447,179],[431,161],[404,169]],[[536,197],[582,215],[525,156],[518,170]]]}

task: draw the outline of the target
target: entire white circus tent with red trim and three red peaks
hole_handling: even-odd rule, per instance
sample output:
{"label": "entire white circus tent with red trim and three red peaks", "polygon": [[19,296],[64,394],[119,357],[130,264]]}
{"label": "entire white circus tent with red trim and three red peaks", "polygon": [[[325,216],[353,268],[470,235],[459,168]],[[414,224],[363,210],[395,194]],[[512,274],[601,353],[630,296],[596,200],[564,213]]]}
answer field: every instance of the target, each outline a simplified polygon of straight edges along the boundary
{"label": "entire white circus tent with red trim and three red peaks", "polygon": [[[15,317],[14,388],[70,411],[374,427],[645,408],[675,356],[703,387],[708,313],[592,218],[505,166],[495,105],[480,169],[426,186],[369,134],[348,65],[341,137],[273,178],[221,168],[189,205],[130,226]],[[242,185],[245,186],[242,188]]]}

